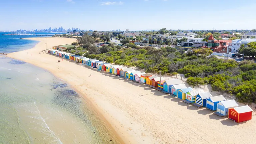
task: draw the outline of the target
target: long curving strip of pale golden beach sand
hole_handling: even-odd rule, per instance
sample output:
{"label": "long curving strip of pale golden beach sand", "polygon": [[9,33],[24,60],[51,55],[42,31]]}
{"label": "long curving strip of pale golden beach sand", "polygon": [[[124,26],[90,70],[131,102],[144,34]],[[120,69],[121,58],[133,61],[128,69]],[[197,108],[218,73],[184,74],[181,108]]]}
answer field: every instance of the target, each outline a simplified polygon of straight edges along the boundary
{"label": "long curving strip of pale golden beach sand", "polygon": [[238,124],[145,85],[66,59],[58,63],[61,58],[51,54],[39,54],[45,50],[45,43],[49,49],[56,45],[71,44],[75,39],[31,40],[40,42],[32,49],[7,56],[42,67],[68,82],[102,114],[106,123],[123,140],[121,143],[256,143],[255,112],[252,120]]}

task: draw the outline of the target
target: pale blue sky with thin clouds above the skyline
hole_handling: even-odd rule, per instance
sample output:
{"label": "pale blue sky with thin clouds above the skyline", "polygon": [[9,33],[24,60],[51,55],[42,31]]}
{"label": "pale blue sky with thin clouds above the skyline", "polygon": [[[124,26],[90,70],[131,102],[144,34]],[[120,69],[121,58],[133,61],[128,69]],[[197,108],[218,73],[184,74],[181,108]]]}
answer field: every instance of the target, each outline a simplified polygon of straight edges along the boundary
{"label": "pale blue sky with thin clouds above the skyline", "polygon": [[255,29],[253,0],[1,0],[0,31]]}

